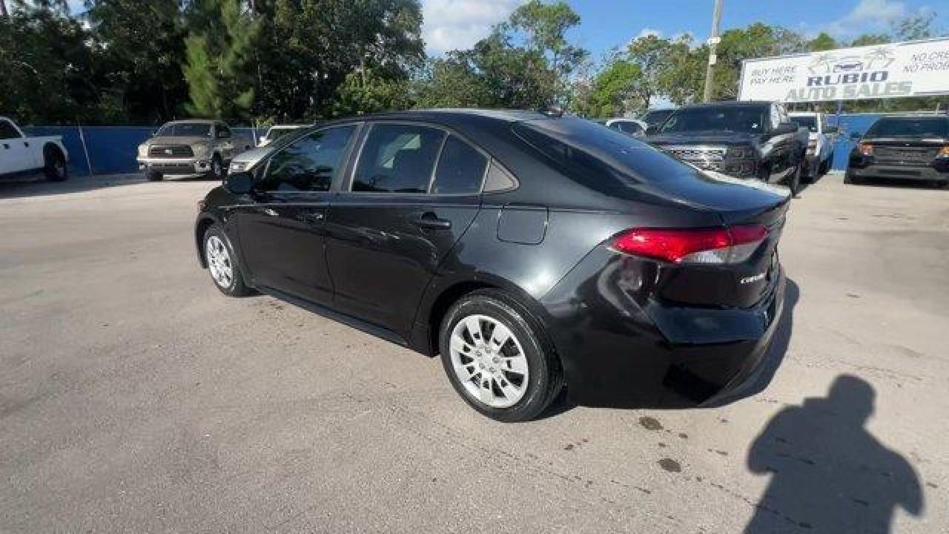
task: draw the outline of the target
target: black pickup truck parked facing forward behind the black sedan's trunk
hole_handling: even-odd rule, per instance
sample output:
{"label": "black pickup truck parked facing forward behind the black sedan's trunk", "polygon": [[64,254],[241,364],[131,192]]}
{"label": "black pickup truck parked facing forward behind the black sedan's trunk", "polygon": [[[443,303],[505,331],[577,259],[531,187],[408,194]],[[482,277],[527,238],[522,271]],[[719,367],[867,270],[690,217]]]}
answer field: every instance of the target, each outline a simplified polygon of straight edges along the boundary
{"label": "black pickup truck parked facing forward behind the black sedan's trunk", "polygon": [[801,186],[808,131],[784,105],[716,102],[677,109],[646,141],[699,168],[736,178]]}

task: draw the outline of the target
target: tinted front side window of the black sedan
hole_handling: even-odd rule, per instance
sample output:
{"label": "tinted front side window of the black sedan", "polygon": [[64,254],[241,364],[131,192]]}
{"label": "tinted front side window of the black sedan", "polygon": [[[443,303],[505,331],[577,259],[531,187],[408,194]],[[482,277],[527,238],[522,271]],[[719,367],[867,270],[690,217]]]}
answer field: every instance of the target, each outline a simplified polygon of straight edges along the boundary
{"label": "tinted front side window of the black sedan", "polygon": [[264,191],[329,191],[340,172],[354,125],[313,132],[270,158],[261,183]]}

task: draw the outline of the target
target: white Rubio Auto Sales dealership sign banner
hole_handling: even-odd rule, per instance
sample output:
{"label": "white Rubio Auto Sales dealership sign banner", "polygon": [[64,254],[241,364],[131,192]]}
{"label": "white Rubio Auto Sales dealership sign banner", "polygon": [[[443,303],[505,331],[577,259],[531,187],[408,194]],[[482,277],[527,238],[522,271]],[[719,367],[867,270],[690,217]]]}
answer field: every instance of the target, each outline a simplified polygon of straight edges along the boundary
{"label": "white Rubio Auto Sales dealership sign banner", "polygon": [[949,38],[745,61],[738,100],[825,102],[949,94]]}

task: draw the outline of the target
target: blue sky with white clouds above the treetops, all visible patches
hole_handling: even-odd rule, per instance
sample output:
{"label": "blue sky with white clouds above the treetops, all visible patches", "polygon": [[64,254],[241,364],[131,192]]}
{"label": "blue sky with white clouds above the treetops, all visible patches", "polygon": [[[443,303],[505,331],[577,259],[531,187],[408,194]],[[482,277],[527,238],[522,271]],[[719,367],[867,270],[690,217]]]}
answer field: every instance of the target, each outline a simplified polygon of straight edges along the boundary
{"label": "blue sky with white clouds above the treetops, all visible patches", "polygon": [[[471,47],[503,20],[520,0],[422,0],[423,33],[429,53]],[[692,33],[698,40],[711,31],[713,0],[568,0],[581,16],[571,38],[600,59],[610,48],[647,32],[662,36]],[[945,0],[723,0],[722,29],[754,22],[784,26],[806,35],[828,31],[851,38],[867,31],[884,31],[888,23],[919,10],[936,12],[935,27],[947,31],[949,13],[937,6]],[[945,9],[943,9],[945,11]]]}

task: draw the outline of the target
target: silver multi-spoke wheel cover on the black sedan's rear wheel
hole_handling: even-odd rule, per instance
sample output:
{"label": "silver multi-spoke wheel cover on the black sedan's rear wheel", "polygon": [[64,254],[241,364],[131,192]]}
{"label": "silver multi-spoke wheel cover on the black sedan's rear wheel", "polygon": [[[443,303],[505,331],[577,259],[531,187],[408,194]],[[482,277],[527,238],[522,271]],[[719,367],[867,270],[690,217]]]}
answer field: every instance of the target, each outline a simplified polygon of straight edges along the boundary
{"label": "silver multi-spoke wheel cover on the black sedan's rear wheel", "polygon": [[468,315],[452,329],[452,368],[465,391],[491,408],[510,408],[528,389],[528,359],[517,337],[488,315]]}

